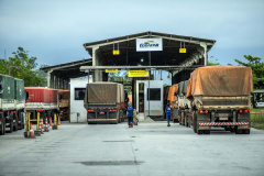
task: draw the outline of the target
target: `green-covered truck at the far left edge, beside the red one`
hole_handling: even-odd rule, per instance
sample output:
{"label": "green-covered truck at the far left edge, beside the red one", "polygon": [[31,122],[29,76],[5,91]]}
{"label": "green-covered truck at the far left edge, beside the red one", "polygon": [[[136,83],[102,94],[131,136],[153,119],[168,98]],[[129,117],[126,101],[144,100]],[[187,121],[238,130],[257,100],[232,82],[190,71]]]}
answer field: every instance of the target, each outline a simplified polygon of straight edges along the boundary
{"label": "green-covered truck at the far left edge, beside the red one", "polygon": [[0,135],[23,129],[24,80],[0,74]]}

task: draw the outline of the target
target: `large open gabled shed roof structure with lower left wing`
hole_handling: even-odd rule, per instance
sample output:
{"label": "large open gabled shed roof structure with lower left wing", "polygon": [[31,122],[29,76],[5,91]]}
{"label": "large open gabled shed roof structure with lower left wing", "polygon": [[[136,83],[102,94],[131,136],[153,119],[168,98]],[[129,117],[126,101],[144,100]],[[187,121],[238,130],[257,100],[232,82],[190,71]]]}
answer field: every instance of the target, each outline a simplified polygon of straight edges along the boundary
{"label": "large open gabled shed roof structure with lower left wing", "polygon": [[[153,40],[160,38],[163,43],[163,50],[138,52],[136,40],[139,38],[148,38],[148,44],[155,44],[152,43]],[[167,70],[172,74],[172,85],[174,85],[188,79],[195,68],[207,65],[208,52],[215,43],[213,40],[148,31],[85,43],[84,47],[92,58],[42,69],[48,73],[50,87],[61,87],[65,85],[65,80],[68,85],[68,78],[87,75],[92,75],[94,81],[107,81],[108,73],[106,69]],[[76,68],[79,68],[80,72]],[[70,69],[74,70],[73,75]],[[134,101],[135,98],[132,97]],[[140,110],[135,103],[134,108]]]}

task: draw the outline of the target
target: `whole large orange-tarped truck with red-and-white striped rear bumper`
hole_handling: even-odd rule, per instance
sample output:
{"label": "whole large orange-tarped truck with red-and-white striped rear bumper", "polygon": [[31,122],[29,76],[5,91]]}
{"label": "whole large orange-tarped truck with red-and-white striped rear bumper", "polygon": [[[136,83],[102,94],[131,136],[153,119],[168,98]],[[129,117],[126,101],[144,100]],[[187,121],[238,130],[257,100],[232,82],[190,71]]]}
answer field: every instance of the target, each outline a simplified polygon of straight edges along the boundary
{"label": "whole large orange-tarped truck with red-and-white striped rear bumper", "polygon": [[213,127],[250,133],[252,70],[242,66],[207,66],[190,75],[187,98],[193,103],[194,131],[210,134]]}

